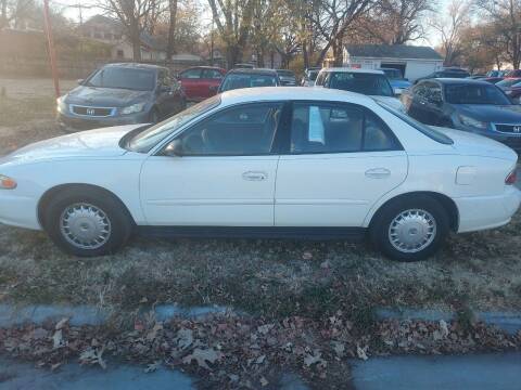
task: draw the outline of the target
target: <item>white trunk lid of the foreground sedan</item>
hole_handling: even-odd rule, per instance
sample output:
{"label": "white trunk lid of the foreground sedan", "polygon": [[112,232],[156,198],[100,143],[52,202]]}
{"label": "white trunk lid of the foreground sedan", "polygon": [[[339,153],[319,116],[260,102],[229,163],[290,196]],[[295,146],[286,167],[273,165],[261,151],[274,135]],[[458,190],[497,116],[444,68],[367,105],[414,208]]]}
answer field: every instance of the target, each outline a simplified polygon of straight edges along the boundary
{"label": "white trunk lid of the foreground sedan", "polygon": [[490,138],[468,131],[431,127],[448,135],[454,141],[454,148],[462,155],[501,158],[511,160],[512,164],[518,159],[518,154],[514,151]]}

